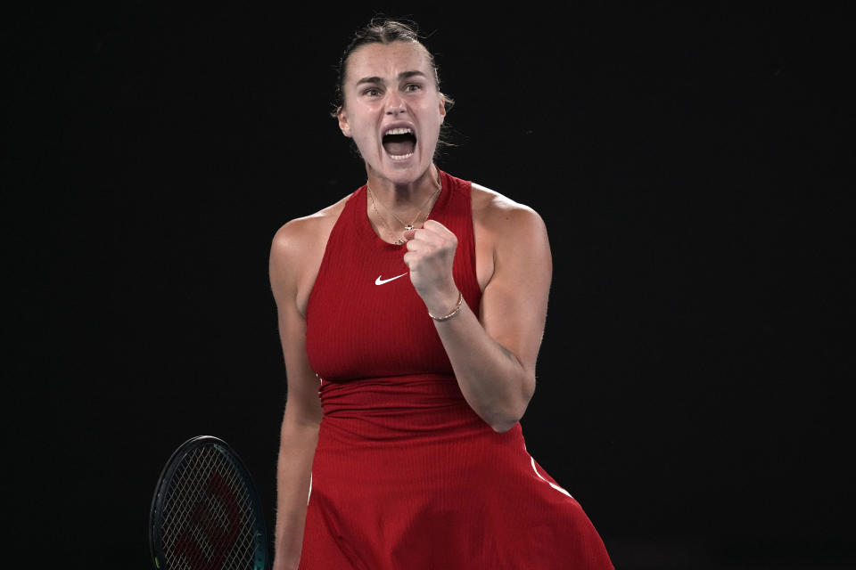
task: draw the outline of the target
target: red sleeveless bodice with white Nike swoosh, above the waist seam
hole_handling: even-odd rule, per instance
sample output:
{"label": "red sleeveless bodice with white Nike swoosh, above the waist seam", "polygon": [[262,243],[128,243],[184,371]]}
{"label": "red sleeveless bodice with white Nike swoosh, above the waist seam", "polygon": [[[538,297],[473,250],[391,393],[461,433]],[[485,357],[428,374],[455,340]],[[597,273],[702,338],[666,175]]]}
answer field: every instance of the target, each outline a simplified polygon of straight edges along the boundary
{"label": "red sleeveless bodice with white Nike swoosh, above the waist seam", "polygon": [[[440,172],[430,219],[457,236],[452,272],[475,314],[472,184]],[[449,357],[410,282],[407,248],[381,240],[366,216],[366,186],[351,194],[330,233],[309,296],[306,350],[324,382],[452,374]]]}

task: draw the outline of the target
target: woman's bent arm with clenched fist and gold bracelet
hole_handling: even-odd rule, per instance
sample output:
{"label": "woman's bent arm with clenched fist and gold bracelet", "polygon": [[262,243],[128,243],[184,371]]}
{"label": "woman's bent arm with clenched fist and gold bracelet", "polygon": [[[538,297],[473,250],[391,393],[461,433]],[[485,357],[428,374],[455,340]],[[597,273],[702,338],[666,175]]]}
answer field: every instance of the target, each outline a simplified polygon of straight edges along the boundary
{"label": "woman's bent arm with clenched fist and gold bracelet", "polygon": [[[502,433],[523,417],[535,391],[553,264],[547,229],[530,208],[504,200],[481,224],[493,245],[481,322],[463,303],[455,316],[434,323],[467,403]],[[405,237],[404,261],[428,313],[449,314],[458,300],[452,277],[457,238],[433,220]]]}

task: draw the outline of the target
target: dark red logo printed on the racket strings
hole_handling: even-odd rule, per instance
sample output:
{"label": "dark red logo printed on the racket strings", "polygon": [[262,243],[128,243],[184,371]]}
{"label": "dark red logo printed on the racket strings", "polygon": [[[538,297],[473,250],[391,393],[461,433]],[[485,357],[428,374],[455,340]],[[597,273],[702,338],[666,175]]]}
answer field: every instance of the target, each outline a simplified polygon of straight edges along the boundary
{"label": "dark red logo printed on the racket strings", "polygon": [[219,570],[235,543],[240,512],[235,493],[218,473],[208,477],[205,491],[207,496],[193,507],[189,525],[178,534],[172,550],[177,557],[185,558],[192,570]]}

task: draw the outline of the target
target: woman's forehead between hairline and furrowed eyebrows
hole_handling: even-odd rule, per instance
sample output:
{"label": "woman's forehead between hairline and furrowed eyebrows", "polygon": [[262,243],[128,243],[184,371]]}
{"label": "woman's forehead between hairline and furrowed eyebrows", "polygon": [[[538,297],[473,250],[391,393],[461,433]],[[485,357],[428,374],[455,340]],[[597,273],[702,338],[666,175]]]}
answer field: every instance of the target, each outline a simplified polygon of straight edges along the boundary
{"label": "woman's forehead between hairline and furrowed eyebrows", "polygon": [[355,83],[363,77],[393,79],[404,71],[422,71],[432,77],[428,54],[422,45],[414,42],[366,44],[350,54],[345,83]]}

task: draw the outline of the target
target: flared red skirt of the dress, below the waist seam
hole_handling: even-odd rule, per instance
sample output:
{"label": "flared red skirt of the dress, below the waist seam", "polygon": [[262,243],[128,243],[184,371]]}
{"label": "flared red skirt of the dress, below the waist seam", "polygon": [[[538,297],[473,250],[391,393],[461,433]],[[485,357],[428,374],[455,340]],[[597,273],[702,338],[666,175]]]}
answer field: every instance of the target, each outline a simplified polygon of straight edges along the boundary
{"label": "flared red skirt of the dress, below the waist seam", "polygon": [[612,568],[580,504],[454,378],[322,382],[300,568]]}

